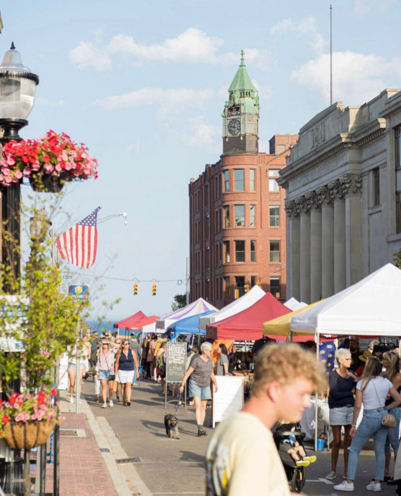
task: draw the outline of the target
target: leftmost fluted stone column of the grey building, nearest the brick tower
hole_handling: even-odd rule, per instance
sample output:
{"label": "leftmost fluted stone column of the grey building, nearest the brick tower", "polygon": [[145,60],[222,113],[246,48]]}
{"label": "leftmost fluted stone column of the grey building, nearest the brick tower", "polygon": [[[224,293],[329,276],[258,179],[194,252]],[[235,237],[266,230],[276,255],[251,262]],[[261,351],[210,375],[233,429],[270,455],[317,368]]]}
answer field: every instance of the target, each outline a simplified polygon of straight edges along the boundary
{"label": "leftmost fluted stone column of the grey building, nearest the brick tower", "polygon": [[286,200],[287,214],[287,300],[299,300],[299,214],[294,201]]}

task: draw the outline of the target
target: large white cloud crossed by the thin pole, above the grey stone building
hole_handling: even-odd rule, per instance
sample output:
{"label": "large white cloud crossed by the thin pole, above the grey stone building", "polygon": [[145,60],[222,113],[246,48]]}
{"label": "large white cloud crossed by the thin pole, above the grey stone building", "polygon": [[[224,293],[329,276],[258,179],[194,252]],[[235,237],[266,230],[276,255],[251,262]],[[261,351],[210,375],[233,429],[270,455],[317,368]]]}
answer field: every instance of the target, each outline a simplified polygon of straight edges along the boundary
{"label": "large white cloud crossed by the thin pole, above the grey stone building", "polygon": [[[333,101],[361,105],[386,87],[386,79],[400,77],[400,59],[387,61],[374,54],[333,53]],[[330,100],[330,55],[322,54],[291,72],[290,78]]]}

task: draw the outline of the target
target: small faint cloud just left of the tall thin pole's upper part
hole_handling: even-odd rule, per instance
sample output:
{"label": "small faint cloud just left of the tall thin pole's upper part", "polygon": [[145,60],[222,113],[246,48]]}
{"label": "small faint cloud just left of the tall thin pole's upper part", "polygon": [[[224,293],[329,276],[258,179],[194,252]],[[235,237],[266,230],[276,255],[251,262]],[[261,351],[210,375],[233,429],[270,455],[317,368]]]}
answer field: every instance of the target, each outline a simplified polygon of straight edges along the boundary
{"label": "small faint cloud just left of the tall thin pole's upper part", "polygon": [[319,32],[318,21],[316,17],[309,15],[304,19],[296,22],[290,17],[282,19],[270,28],[270,34],[272,35],[288,35],[295,34],[298,37],[310,38],[308,45],[316,53],[321,53],[327,44],[324,36]]}

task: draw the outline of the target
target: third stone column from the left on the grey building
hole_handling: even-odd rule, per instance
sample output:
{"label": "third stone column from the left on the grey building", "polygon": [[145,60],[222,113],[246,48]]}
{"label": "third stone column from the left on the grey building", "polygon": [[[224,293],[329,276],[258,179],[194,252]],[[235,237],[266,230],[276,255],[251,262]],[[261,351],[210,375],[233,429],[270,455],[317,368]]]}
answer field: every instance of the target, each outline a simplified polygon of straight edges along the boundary
{"label": "third stone column from the left on the grey building", "polygon": [[305,194],[310,208],[310,303],[322,297],[322,205],[316,191]]}

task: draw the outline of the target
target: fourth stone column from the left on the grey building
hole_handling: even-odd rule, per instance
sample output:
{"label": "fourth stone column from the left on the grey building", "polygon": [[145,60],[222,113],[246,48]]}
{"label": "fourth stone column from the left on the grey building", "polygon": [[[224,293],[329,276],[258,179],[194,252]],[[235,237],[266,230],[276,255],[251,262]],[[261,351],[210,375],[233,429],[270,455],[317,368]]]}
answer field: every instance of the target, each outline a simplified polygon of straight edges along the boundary
{"label": "fourth stone column from the left on the grey building", "polygon": [[327,186],[316,193],[322,205],[322,298],[327,298],[334,294],[334,208]]}

